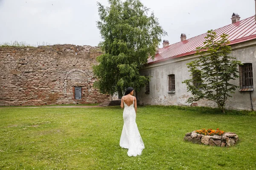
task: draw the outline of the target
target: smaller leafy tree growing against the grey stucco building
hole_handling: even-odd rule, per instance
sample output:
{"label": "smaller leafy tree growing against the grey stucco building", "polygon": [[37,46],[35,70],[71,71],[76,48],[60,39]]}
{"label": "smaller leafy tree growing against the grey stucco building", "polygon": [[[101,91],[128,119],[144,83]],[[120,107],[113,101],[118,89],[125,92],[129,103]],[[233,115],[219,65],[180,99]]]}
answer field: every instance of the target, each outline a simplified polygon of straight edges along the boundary
{"label": "smaller leafy tree growing against the grey stucco building", "polygon": [[[218,108],[225,113],[225,102],[230,94],[239,86],[230,84],[230,80],[238,78],[238,65],[235,57],[230,57],[232,49],[228,45],[227,34],[222,34],[220,40],[214,31],[207,31],[203,47],[197,48],[200,57],[189,62],[187,67],[192,79],[183,81],[192,97],[187,102],[208,99],[216,102]],[[197,86],[195,86],[197,84]]]}

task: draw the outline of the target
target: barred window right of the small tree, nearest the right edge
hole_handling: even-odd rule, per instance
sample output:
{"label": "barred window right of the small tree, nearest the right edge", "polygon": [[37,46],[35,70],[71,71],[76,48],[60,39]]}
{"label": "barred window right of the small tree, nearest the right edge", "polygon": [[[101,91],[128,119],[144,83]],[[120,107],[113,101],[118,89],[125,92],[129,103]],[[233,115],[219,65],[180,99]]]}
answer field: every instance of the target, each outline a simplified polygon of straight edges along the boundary
{"label": "barred window right of the small tree, nearest the right edge", "polygon": [[240,88],[253,88],[253,65],[245,63],[240,65]]}

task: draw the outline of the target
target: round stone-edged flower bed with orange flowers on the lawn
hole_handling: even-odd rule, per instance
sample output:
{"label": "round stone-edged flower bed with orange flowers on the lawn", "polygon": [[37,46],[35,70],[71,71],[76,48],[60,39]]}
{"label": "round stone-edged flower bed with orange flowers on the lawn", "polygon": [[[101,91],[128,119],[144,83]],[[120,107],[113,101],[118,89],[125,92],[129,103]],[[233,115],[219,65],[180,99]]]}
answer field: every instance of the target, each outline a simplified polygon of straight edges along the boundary
{"label": "round stone-edged flower bed with orange flowers on the lawn", "polygon": [[230,147],[236,144],[239,137],[233,132],[224,132],[223,130],[201,129],[185,134],[185,141],[206,144],[218,147]]}

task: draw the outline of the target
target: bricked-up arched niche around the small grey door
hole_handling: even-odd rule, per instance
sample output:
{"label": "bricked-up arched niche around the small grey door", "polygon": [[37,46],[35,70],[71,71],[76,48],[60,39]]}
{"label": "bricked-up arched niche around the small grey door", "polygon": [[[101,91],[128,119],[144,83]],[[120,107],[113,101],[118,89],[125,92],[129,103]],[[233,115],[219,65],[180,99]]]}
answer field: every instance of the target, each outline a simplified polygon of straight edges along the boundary
{"label": "bricked-up arched niche around the small grey door", "polygon": [[87,95],[88,89],[90,89],[90,83],[88,83],[88,79],[91,79],[90,73],[88,71],[83,71],[79,68],[73,68],[68,71],[64,78],[64,91],[63,94],[66,97],[73,98],[73,90],[74,86],[84,87],[83,95]]}

